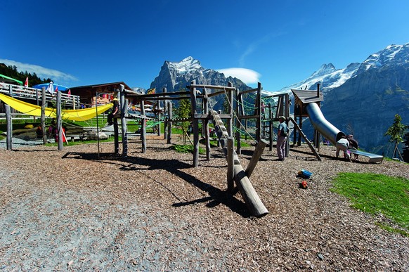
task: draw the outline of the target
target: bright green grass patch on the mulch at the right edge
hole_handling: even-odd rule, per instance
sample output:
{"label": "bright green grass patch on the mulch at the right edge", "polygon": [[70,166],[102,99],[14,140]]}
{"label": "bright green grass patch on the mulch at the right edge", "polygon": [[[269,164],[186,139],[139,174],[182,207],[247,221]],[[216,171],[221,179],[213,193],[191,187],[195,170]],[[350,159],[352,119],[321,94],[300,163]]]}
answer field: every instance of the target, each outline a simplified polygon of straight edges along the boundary
{"label": "bright green grass patch on the mulch at the right edge", "polygon": [[409,180],[382,174],[339,173],[335,193],[351,200],[351,207],[369,214],[382,214],[388,221],[377,225],[409,237]]}

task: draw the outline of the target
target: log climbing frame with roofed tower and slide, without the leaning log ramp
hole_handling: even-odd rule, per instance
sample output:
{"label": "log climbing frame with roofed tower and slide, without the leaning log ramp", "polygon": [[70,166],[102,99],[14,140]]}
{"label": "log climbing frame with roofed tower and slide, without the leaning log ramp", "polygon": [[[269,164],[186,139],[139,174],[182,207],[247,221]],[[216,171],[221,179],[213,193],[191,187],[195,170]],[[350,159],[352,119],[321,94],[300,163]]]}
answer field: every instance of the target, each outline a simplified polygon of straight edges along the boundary
{"label": "log climbing frame with roofed tower and slide, without the leaning log ramp", "polygon": [[[325,119],[323,113],[320,110],[320,102],[323,101],[323,93],[320,91],[320,85],[317,85],[317,90],[292,90],[294,95],[294,114],[290,115],[290,106],[292,101],[290,101],[289,93],[278,93],[271,96],[262,96],[262,87],[259,83],[257,88],[249,89],[245,91],[239,91],[233,84],[229,83],[228,86],[212,86],[195,84],[192,82],[190,86],[187,86],[190,91],[179,91],[167,93],[166,88],[163,89],[162,93],[152,93],[147,95],[131,94],[128,91],[120,91],[123,93],[121,98],[121,105],[126,105],[126,96],[133,96],[133,98],[140,100],[141,109],[144,109],[144,100],[150,101],[164,101],[164,112],[167,112],[167,118],[163,119],[165,123],[165,138],[167,138],[167,143],[171,143],[171,126],[172,122],[176,119],[172,118],[172,104],[171,100],[180,99],[190,99],[191,104],[191,116],[186,119],[178,119],[178,122],[189,121],[192,123],[193,127],[193,166],[198,165],[198,145],[199,145],[199,123],[202,122],[202,136],[204,136],[204,145],[206,146],[206,157],[210,160],[210,135],[209,135],[209,119],[211,119],[209,112],[212,109],[211,98],[214,96],[225,96],[228,101],[227,112],[219,112],[221,119],[226,122],[226,129],[228,131],[228,136],[233,136],[233,131],[235,131],[235,141],[237,144],[236,153],[241,155],[241,135],[240,131],[244,128],[247,132],[247,121],[252,119],[255,124],[255,136],[253,140],[259,143],[261,140],[268,140],[269,148],[272,150],[274,141],[274,122],[278,122],[278,117],[284,116],[287,124],[292,123],[293,127],[290,126],[290,135],[292,135],[293,145],[301,145],[301,138],[304,138],[305,143],[309,145],[311,152],[316,156],[317,160],[321,160],[319,155],[321,136],[323,136],[327,141],[336,145],[339,138],[345,136],[344,132],[340,131]],[[201,91],[200,91],[201,90]],[[216,90],[216,91],[213,91]],[[245,99],[244,96],[248,93],[254,93],[254,107],[251,109],[252,114],[249,114],[248,110],[245,110]],[[265,103],[267,99],[271,98],[273,103]],[[267,104],[267,105],[266,105]],[[160,103],[157,103],[159,107]],[[210,111],[209,111],[209,108]],[[126,108],[122,110],[126,115]],[[158,108],[158,112],[159,108]],[[124,115],[124,120],[122,124],[126,124],[126,117]],[[302,120],[303,117],[308,117],[314,128],[313,139],[310,139],[304,134],[302,130]],[[135,117],[134,117],[135,118]],[[146,140],[145,140],[145,124],[149,117],[146,117],[144,112],[136,117],[142,119],[141,128],[141,138],[142,138],[142,149],[143,153],[146,152]],[[159,122],[160,116],[158,117]],[[233,125],[235,122],[235,125]],[[122,129],[126,129],[122,127]],[[247,132],[248,134],[248,132]],[[158,135],[160,135],[160,130],[158,130]],[[124,137],[124,136],[123,136]],[[126,139],[126,136],[124,137]],[[123,143],[122,155],[127,155],[127,145],[126,140]],[[287,141],[286,155],[288,156],[290,151],[290,141]],[[119,153],[118,146],[115,147],[115,152]],[[382,162],[383,156],[376,155],[372,153],[365,153],[361,150],[351,150],[351,153],[358,155],[363,155],[369,158],[369,162]]]}

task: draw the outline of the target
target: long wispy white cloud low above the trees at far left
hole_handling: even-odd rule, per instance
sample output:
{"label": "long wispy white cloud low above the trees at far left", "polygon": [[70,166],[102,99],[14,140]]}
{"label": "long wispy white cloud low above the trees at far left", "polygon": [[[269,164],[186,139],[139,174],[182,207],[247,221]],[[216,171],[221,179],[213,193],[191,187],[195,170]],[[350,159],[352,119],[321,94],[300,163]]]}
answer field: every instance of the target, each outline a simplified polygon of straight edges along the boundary
{"label": "long wispy white cloud low above the trees at far left", "polygon": [[33,65],[33,64],[28,64],[28,63],[19,63],[18,61],[15,60],[6,60],[6,59],[0,59],[0,63],[4,63],[5,65],[11,65],[17,67],[17,70],[19,72],[29,72],[30,74],[33,74],[34,72],[39,78],[51,78],[54,80],[54,82],[76,82],[78,81],[77,77],[74,77],[72,75],[68,75],[65,72],[60,72],[58,70],[53,70],[53,69],[48,69],[41,67],[39,65]]}

